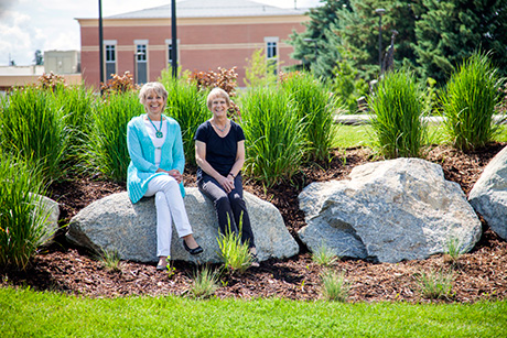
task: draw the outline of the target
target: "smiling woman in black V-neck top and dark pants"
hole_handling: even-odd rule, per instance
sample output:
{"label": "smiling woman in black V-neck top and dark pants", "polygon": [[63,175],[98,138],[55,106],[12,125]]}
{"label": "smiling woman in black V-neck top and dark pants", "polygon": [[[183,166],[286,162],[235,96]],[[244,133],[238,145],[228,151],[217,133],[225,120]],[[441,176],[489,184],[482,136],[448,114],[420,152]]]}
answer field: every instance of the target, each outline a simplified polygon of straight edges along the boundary
{"label": "smiling woman in black V-neck top and dark pants", "polygon": [[242,198],[241,167],[245,163],[245,134],[241,127],[227,118],[230,106],[228,94],[213,89],[207,97],[207,107],[213,118],[197,128],[195,133],[195,159],[197,186],[208,196],[218,216],[222,233],[238,232],[241,225],[241,241],[248,242],[254,266],[259,266],[250,218]]}

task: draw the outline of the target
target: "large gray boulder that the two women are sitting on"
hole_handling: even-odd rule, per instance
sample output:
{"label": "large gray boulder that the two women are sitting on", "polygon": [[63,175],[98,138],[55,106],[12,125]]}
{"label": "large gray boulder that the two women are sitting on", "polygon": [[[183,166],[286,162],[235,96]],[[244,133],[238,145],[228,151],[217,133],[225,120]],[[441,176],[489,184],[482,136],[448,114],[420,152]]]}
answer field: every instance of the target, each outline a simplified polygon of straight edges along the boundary
{"label": "large gray boulder that the two women are sitting on", "polygon": [[[194,237],[204,253],[190,255],[173,225],[171,259],[194,263],[220,262],[218,222],[213,204],[197,188],[185,190],[185,208]],[[245,200],[259,260],[296,254],[299,246],[287,230],[280,211],[249,193],[245,193]],[[127,193],[119,193],[97,200],[71,220],[67,239],[96,252],[116,251],[123,260],[155,262],[157,214],[153,198],[143,198],[132,205]]]}

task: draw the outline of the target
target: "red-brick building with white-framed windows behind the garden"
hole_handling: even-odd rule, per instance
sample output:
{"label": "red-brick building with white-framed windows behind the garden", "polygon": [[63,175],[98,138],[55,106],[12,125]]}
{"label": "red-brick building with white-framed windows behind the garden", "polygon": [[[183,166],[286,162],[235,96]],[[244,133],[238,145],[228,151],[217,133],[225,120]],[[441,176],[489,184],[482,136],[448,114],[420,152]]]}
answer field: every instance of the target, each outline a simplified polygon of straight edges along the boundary
{"label": "red-brick building with white-framed windows behind the garden", "polygon": [[[278,66],[296,63],[285,43],[293,30],[304,31],[304,9],[280,9],[247,0],[176,2],[177,61],[182,70],[216,70],[237,66],[244,86],[247,58],[263,48]],[[98,87],[98,20],[77,19],[80,25],[82,74]],[[171,66],[171,4],[103,19],[104,75],[129,70],[138,84],[157,80]]]}

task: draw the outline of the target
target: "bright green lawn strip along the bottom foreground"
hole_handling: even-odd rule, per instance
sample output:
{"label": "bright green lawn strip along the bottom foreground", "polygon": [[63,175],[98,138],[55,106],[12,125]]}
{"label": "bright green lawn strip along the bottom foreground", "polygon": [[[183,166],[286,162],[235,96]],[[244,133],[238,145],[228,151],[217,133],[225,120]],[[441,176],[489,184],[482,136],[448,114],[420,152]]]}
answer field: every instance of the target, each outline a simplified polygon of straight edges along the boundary
{"label": "bright green lawn strip along the bottom foreground", "polygon": [[505,337],[507,302],[127,297],[0,288],[0,337]]}

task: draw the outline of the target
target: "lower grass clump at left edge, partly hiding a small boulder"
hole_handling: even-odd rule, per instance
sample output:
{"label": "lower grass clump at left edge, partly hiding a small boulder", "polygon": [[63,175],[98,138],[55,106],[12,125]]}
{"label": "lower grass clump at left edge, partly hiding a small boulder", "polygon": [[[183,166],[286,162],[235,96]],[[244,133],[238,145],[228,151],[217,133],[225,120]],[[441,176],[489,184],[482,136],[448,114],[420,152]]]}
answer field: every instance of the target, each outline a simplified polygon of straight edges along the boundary
{"label": "lower grass clump at left edge, partly hiding a small boulder", "polygon": [[37,167],[0,152],[0,266],[25,270],[36,249],[51,237],[42,195]]}

